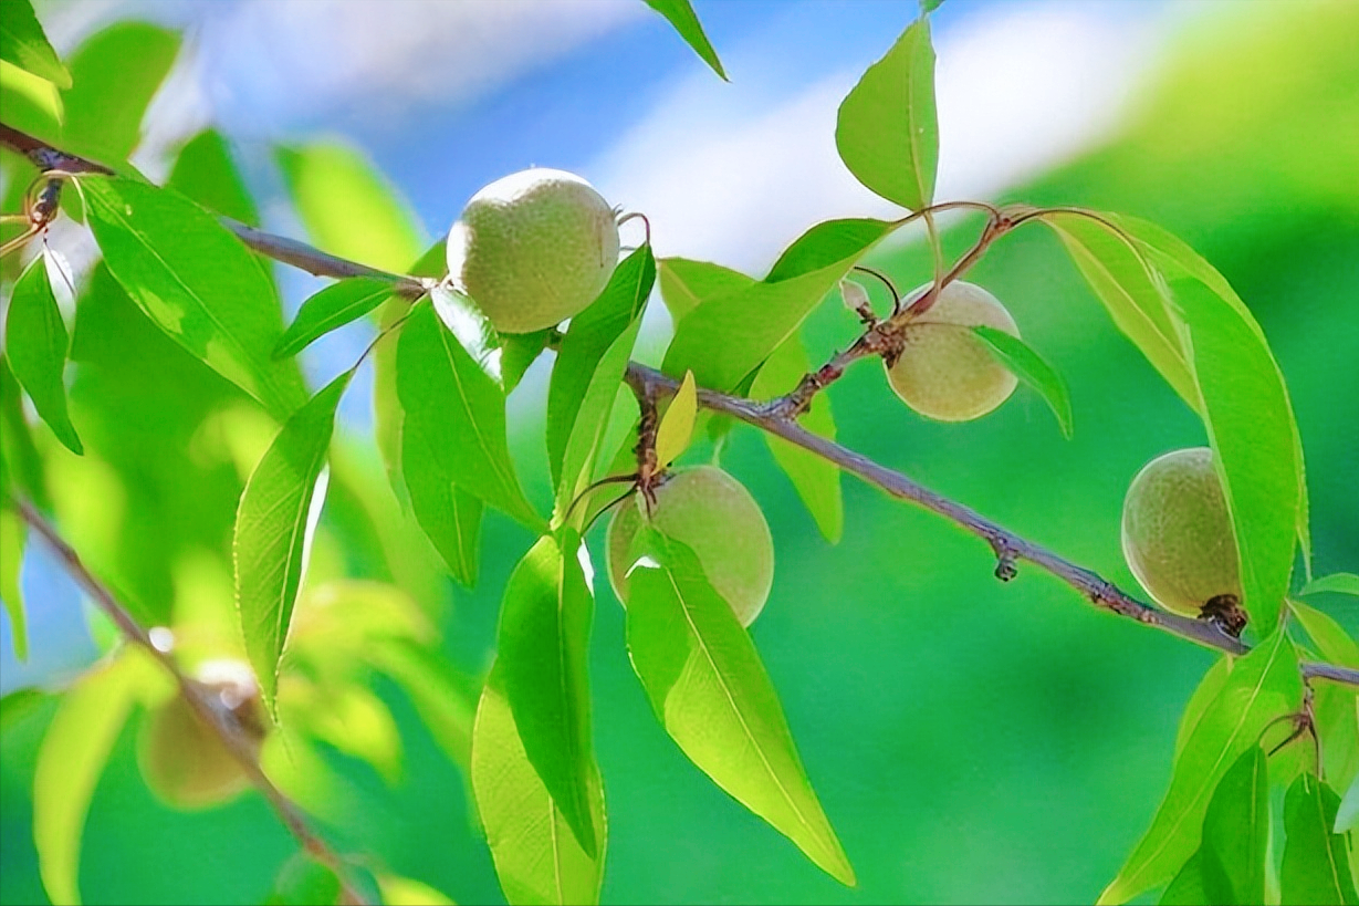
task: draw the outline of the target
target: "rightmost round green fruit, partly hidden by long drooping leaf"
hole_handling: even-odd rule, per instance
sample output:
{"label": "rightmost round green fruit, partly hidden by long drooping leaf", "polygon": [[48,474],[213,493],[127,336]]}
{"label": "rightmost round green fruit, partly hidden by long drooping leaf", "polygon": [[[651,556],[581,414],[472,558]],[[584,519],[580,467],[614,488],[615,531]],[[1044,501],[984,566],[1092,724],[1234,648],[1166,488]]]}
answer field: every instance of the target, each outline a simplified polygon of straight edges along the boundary
{"label": "rightmost round green fruit, partly hidden by long drooping leaf", "polygon": [[1123,555],[1167,611],[1199,616],[1222,596],[1241,600],[1237,543],[1212,450],[1174,450],[1147,463],[1123,502]]}

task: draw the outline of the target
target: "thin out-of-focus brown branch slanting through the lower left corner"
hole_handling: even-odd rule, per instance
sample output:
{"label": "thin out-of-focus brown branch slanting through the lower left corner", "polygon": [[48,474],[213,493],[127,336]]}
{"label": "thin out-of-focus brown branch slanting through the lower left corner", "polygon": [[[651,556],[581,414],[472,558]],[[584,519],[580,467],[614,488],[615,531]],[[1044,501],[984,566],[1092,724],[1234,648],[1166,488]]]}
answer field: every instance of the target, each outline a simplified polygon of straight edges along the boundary
{"label": "thin out-of-focus brown branch slanting through the lower left corner", "polygon": [[94,600],[95,607],[103,611],[113,620],[118,631],[135,645],[145,649],[164,669],[170,672],[179,687],[179,695],[189,703],[194,714],[217,735],[231,756],[236,759],[250,782],[258,789],[273,807],[284,827],[298,839],[313,858],[322,862],[336,873],[344,887],[345,902],[363,903],[363,896],[345,879],[348,871],[345,862],[330,846],[321,839],[307,824],[307,818],[288,796],[280,790],[264,773],[250,737],[242,729],[239,721],[226,707],[217,703],[215,695],[208,688],[186,676],[174,658],[164,650],[156,648],[151,641],[151,634],[128,612],[125,607],[113,596],[113,592],[90,571],[90,569],[76,554],[75,548],[67,544],[56,528],[27,501],[15,499],[19,516],[29,526],[42,536],[49,547],[57,554],[65,567],[84,590]]}

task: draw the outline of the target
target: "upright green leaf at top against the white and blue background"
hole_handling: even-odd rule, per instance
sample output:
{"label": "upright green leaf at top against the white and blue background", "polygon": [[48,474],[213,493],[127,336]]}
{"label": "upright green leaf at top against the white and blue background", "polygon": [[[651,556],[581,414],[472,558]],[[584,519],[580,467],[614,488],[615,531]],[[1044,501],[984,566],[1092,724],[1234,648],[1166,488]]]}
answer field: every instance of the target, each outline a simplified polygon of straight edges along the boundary
{"label": "upright green leaf at top against the white and blue background", "polygon": [[919,211],[934,201],[939,122],[930,20],[901,33],[840,103],[836,148],[859,182]]}

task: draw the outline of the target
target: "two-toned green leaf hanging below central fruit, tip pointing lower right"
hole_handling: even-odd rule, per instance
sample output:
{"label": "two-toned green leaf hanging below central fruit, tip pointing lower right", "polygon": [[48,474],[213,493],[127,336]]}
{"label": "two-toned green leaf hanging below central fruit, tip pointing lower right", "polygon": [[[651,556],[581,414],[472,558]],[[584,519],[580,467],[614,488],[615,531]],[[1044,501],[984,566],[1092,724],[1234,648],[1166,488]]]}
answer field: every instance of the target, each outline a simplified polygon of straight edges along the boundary
{"label": "two-toned green leaf hanging below central fruit, tip pointing lower right", "polygon": [[628,650],[656,720],[718,786],[852,886],[750,637],[692,550],[658,532],[639,543],[650,562],[628,580]]}

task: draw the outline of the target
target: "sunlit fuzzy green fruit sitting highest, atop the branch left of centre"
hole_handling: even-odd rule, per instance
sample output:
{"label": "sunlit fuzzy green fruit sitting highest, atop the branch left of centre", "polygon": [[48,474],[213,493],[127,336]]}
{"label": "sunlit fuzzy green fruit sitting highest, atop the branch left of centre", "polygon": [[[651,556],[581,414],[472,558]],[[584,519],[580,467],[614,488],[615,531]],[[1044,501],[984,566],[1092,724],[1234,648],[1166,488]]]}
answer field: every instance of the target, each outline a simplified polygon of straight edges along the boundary
{"label": "sunlit fuzzy green fruit sitting highest, atop the branch left of centre", "polygon": [[501,333],[580,314],[618,263],[609,203],[578,175],[535,167],[496,180],[448,233],[448,273]]}

